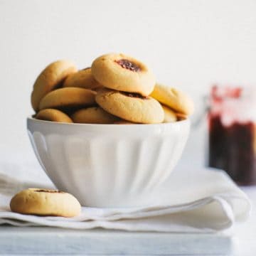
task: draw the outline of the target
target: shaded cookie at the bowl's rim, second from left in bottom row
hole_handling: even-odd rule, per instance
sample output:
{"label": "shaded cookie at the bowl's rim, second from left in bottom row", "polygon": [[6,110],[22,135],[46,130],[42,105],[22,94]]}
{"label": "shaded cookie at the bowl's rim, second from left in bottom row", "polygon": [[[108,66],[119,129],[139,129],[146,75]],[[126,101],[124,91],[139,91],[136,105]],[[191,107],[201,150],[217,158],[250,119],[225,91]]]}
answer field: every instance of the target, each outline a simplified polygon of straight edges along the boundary
{"label": "shaded cookie at the bowl's rim, second from left in bottom row", "polygon": [[102,110],[101,107],[88,107],[72,114],[73,122],[85,124],[112,124],[118,117]]}

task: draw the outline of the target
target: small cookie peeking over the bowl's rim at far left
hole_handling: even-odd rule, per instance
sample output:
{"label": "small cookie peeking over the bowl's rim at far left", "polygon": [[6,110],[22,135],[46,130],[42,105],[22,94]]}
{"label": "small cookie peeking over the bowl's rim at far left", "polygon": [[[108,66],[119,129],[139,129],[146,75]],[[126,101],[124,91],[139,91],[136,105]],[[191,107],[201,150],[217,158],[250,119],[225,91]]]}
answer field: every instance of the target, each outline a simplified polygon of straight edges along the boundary
{"label": "small cookie peeking over the bowl's rim at far left", "polygon": [[52,122],[73,122],[72,119],[68,116],[68,114],[63,113],[60,110],[54,109],[46,109],[39,111],[36,114],[36,119]]}

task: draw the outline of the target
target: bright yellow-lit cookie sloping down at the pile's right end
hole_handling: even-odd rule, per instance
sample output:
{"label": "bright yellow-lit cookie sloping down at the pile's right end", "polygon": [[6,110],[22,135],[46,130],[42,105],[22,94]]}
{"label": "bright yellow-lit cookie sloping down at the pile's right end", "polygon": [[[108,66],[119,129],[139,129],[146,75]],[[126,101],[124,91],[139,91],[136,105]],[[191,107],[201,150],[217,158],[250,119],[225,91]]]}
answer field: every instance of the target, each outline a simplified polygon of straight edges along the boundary
{"label": "bright yellow-lit cookie sloping down at the pile's right end", "polygon": [[186,115],[193,114],[194,106],[191,98],[174,87],[156,84],[150,96],[176,112]]}

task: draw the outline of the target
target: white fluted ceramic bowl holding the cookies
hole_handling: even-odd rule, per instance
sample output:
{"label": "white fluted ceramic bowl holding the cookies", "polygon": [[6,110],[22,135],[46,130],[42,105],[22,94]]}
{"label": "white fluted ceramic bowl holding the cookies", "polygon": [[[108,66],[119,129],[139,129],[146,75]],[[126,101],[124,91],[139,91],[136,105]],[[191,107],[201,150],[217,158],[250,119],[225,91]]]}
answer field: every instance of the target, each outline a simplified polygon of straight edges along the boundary
{"label": "white fluted ceramic bowl holding the cookies", "polygon": [[186,144],[188,119],[164,124],[65,124],[27,119],[38,161],[82,206],[150,203]]}

